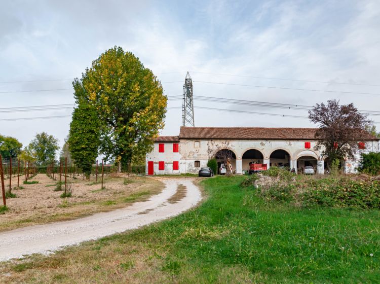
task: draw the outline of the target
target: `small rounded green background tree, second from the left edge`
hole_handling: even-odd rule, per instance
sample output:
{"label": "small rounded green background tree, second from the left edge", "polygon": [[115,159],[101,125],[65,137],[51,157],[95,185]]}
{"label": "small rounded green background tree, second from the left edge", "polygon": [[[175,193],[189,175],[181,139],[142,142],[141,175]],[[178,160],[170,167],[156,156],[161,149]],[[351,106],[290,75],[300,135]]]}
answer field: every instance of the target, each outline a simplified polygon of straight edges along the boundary
{"label": "small rounded green background tree, second from the left edge", "polygon": [[28,145],[28,150],[40,165],[52,162],[58,149],[58,139],[46,132],[37,133]]}

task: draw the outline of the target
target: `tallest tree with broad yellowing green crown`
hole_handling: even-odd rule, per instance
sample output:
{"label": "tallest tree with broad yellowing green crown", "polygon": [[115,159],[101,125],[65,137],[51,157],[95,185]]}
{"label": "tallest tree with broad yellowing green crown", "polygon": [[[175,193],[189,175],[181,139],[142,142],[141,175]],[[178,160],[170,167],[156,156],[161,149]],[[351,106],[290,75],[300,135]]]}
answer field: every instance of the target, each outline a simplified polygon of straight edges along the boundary
{"label": "tallest tree with broad yellowing green crown", "polygon": [[[100,153],[127,170],[133,155],[151,151],[164,127],[167,97],[161,82],[131,52],[115,47],[101,54],[76,81],[77,100],[92,105],[101,126]],[[74,82],[75,84],[75,82]]]}

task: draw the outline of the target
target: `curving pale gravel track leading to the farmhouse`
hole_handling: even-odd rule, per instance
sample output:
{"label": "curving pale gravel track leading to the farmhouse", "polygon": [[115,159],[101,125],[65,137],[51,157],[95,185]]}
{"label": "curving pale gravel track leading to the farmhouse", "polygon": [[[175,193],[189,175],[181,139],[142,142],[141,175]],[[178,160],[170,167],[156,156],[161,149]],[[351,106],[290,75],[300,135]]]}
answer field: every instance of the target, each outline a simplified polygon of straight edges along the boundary
{"label": "curving pale gravel track leading to the farmhouse", "polygon": [[[161,181],[165,189],[160,194],[126,208],[71,221],[0,232],[0,261],[33,253],[46,254],[66,245],[135,229],[176,216],[201,200],[201,192],[193,179],[163,178]],[[186,194],[173,202],[171,197],[176,195],[177,189],[183,192],[181,185],[186,187]]]}

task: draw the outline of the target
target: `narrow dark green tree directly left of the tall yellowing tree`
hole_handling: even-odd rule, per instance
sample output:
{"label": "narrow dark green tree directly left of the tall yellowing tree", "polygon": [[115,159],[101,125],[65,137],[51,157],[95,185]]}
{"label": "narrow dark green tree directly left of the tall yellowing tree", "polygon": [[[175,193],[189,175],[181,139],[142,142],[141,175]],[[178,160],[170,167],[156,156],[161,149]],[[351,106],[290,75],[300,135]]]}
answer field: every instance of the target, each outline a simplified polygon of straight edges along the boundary
{"label": "narrow dark green tree directly left of the tall yellowing tree", "polygon": [[[77,82],[78,83],[78,82]],[[75,86],[77,92],[81,86]],[[93,105],[78,101],[78,107],[72,113],[70,133],[67,140],[71,157],[89,178],[92,165],[98,156],[99,148],[99,120]]]}

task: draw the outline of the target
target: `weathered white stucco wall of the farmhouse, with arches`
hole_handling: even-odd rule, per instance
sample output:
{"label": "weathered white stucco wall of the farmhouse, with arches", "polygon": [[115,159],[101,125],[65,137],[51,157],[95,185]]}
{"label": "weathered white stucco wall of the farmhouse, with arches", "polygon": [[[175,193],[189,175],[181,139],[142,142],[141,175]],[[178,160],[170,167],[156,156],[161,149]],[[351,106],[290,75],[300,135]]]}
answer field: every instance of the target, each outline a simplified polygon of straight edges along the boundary
{"label": "weathered white stucco wall of the farmhouse, with arches", "polygon": [[[305,149],[305,142],[311,143],[310,149]],[[197,140],[197,139],[181,139],[179,142],[179,152],[173,153],[173,143],[164,142],[165,152],[159,153],[159,144],[155,143],[154,150],[146,156],[146,173],[148,171],[147,162],[154,162],[155,174],[179,174],[179,173],[198,173],[200,167],[207,165],[210,157],[214,156],[218,150],[229,149],[236,155],[236,161],[232,161],[233,171],[237,174],[243,173],[248,169],[249,159],[242,159],[243,154],[255,149],[263,155],[262,163],[270,163],[272,165],[283,162],[278,159],[270,159],[271,154],[276,150],[284,150],[289,154],[289,164],[291,168],[305,167],[304,161],[299,158],[311,156],[316,159],[313,162],[318,173],[324,173],[324,161],[320,157],[320,153],[314,150],[317,141],[315,140]],[[363,152],[378,152],[379,142],[368,141],[365,144],[366,149]],[[358,153],[355,161],[345,161],[345,171],[355,172],[358,166],[360,155]],[[165,170],[159,170],[159,161],[165,162]],[[179,162],[179,170],[173,171],[173,161]],[[195,167],[195,161],[200,161],[200,167]],[[298,163],[299,162],[299,165]]]}

